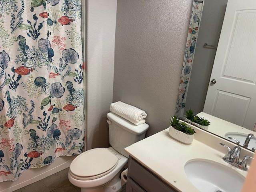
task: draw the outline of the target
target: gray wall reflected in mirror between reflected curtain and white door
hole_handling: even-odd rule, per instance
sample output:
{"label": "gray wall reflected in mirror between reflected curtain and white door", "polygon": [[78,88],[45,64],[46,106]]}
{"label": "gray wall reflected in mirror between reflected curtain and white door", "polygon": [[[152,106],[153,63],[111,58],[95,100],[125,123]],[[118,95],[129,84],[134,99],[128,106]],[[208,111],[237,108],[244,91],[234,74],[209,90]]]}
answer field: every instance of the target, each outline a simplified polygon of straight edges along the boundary
{"label": "gray wall reflected in mirror between reflected curtain and white door", "polygon": [[216,48],[204,48],[204,43],[218,45],[222,23],[228,0],[205,0],[196,43],[196,51],[188,86],[186,110],[199,113],[204,109],[204,101],[212,74]]}

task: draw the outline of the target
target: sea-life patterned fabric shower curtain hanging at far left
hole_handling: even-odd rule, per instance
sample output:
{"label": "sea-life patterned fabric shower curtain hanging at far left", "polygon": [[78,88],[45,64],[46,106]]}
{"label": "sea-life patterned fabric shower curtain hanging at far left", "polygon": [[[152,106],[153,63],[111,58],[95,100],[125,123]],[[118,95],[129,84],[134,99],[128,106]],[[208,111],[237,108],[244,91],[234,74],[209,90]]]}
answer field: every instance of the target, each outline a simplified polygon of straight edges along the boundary
{"label": "sea-life patterned fabric shower curtain hanging at far left", "polygon": [[81,0],[0,0],[0,182],[84,145]]}

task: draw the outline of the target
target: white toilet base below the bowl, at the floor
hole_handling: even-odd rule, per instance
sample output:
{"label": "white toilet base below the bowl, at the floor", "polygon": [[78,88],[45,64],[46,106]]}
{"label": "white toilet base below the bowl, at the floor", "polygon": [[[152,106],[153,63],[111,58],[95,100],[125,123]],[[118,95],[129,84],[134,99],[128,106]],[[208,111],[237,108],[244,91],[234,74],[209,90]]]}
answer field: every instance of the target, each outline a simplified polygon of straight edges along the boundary
{"label": "white toilet base below the bowl, at the floor", "polygon": [[97,188],[81,188],[81,192],[120,192],[122,188],[120,172],[107,184]]}

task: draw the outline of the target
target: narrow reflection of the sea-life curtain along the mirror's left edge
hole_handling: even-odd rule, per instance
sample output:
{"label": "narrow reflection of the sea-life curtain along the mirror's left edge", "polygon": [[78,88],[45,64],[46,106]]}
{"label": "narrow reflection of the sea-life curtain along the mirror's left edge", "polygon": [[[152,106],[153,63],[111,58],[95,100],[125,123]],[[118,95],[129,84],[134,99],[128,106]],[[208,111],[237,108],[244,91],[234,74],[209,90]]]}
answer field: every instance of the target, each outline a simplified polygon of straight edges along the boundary
{"label": "narrow reflection of the sea-life curtain along the mirror's left edge", "polygon": [[178,91],[178,98],[176,101],[176,115],[180,118],[182,118],[184,115],[186,96],[188,93],[188,84],[190,79],[190,73],[192,70],[192,63],[196,48],[196,40],[199,32],[202,10],[203,1],[194,0],[190,24],[188,28],[188,38],[180,78],[180,87]]}

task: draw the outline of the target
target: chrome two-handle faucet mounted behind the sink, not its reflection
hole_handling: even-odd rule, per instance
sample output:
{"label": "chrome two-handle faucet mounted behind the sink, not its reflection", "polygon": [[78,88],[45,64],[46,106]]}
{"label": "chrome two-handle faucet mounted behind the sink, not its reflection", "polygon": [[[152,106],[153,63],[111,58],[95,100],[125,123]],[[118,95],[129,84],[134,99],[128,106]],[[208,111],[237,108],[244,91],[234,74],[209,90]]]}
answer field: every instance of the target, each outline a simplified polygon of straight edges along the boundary
{"label": "chrome two-handle faucet mounted behind the sink, not its reflection", "polygon": [[231,149],[229,146],[227,146],[223,143],[220,143],[220,144],[222,146],[228,148],[228,151],[226,152],[225,156],[222,158],[225,162],[227,162],[241,170],[244,170],[244,171],[248,170],[247,162],[248,162],[249,158],[253,159],[252,157],[244,156],[244,159],[242,160],[242,162],[239,162],[240,151],[241,151],[240,146],[235,146],[233,149]]}

